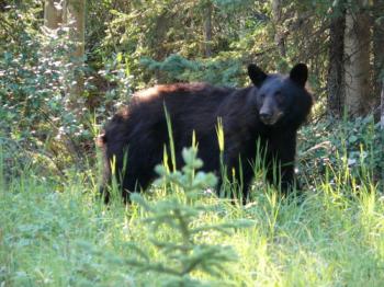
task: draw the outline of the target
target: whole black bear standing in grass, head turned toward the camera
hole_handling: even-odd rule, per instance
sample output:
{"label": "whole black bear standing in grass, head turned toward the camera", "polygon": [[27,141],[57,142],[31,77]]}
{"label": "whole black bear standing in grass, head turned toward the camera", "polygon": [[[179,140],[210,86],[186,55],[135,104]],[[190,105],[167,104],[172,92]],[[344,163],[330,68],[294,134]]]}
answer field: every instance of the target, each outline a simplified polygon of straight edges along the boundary
{"label": "whole black bear standing in grass, head turned toward the camera", "polygon": [[[221,176],[216,134],[221,118],[224,164],[231,174],[228,179],[242,183],[242,198],[248,196],[252,162],[261,157],[257,154],[257,141],[263,149],[267,180],[281,185],[283,192],[289,191],[294,184],[296,131],[313,105],[305,89],[307,67],[297,64],[289,76],[282,76],[267,74],[249,65],[248,74],[253,85],[244,89],[177,83],[136,93],[99,137],[104,153],[101,191],[105,203],[110,197],[111,170],[115,171],[125,200],[131,192],[145,190],[156,177],[154,168],[162,162],[165,146],[169,146],[166,110],[172,125],[177,168],[183,164],[181,151],[191,146],[194,131],[203,170]],[[278,179],[273,162],[279,167]]]}

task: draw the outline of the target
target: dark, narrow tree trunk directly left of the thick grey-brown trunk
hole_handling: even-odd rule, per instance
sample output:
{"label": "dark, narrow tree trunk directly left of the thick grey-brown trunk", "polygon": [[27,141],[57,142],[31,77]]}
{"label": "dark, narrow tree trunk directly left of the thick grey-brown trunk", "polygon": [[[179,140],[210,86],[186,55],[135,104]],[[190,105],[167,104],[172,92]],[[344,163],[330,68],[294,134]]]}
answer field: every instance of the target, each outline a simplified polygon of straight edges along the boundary
{"label": "dark, narrow tree trunk directly left of the thick grey-brown trunk", "polygon": [[342,116],[345,102],[345,43],[341,41],[346,30],[346,11],[343,8],[334,13],[329,27],[329,68],[327,79],[328,112],[335,117]]}

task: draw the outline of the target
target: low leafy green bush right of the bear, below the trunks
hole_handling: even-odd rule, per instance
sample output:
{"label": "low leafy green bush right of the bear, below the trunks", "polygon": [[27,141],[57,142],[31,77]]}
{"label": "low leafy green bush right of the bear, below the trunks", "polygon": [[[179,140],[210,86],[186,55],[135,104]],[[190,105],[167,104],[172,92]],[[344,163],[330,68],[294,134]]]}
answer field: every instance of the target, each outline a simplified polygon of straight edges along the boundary
{"label": "low leafy green bush right of the bear, below the trunks", "polygon": [[373,116],[310,124],[300,133],[300,169],[312,186],[326,173],[330,182],[343,180],[346,185],[351,184],[351,176],[380,182],[384,169],[382,136]]}

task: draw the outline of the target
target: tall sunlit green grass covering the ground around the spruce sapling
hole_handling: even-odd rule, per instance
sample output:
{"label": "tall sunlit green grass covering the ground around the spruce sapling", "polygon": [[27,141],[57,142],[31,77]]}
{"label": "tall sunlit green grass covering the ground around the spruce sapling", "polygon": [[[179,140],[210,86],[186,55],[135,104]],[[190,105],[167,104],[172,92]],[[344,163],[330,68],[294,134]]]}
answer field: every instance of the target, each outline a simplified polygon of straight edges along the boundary
{"label": "tall sunlit green grass covering the ground around the spruce sapling", "polygon": [[[218,279],[193,272],[196,285],[383,286],[384,197],[369,162],[352,171],[346,156],[330,156],[334,161],[315,180],[302,179],[307,185],[300,199],[281,198],[260,183],[259,171],[246,206],[210,193],[201,196],[199,205],[210,211],[199,214],[193,227],[242,219],[252,225],[199,237],[207,245],[231,246],[237,260],[224,263],[228,272]],[[103,205],[92,184],[98,181],[76,172],[64,187],[33,169],[2,179],[0,286],[163,286],[167,274],[129,264],[137,257],[135,246],[153,262],[171,264],[150,242],[142,206],[125,206],[118,196]],[[169,185],[159,184],[144,197],[156,204],[170,193]],[[173,196],[185,200],[179,191]],[[172,228],[158,228],[162,239],[176,237]]]}

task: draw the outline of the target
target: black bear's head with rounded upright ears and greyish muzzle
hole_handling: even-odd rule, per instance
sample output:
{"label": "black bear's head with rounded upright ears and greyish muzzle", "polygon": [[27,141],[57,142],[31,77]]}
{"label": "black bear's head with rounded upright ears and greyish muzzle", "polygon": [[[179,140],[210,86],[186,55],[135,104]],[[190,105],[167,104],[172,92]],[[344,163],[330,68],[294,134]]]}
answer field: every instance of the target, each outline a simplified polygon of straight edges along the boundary
{"label": "black bear's head with rounded upright ears and greyish muzzle", "polygon": [[267,74],[256,65],[248,66],[248,76],[258,88],[252,96],[260,120],[268,126],[301,124],[312,107],[312,95],[305,83],[308,69],[304,64],[294,66],[289,76]]}

